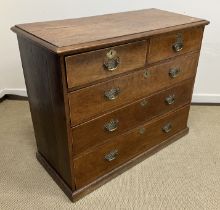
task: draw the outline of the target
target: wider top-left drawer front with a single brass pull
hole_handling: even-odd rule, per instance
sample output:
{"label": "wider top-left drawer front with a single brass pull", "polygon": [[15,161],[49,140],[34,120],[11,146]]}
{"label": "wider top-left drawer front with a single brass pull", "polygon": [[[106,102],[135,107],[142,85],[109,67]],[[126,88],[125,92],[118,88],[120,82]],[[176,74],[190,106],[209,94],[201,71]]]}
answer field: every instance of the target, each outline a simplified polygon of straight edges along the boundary
{"label": "wider top-left drawer front with a single brass pull", "polygon": [[145,66],[147,42],[138,41],[65,58],[68,87],[76,87]]}

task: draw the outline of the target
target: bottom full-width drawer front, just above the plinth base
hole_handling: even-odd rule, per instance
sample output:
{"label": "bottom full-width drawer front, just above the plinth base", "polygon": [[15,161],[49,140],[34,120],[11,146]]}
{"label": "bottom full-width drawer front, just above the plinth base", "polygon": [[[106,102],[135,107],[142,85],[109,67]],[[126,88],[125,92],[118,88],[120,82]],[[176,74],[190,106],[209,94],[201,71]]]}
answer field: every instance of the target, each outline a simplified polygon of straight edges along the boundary
{"label": "bottom full-width drawer front, just above the plinth base", "polygon": [[189,106],[162,116],[74,159],[76,188],[85,186],[137,154],[146,151],[187,127]]}

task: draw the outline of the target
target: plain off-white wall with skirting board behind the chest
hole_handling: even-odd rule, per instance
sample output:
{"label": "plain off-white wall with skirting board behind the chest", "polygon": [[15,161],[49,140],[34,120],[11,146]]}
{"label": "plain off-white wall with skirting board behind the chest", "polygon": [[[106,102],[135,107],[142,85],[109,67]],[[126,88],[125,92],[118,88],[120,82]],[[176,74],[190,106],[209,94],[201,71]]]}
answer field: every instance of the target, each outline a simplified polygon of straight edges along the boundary
{"label": "plain off-white wall with skirting board behind the chest", "polygon": [[[0,1],[0,97],[6,93],[26,95],[16,35],[10,27],[19,23],[78,18],[145,8],[158,8],[211,22],[206,27],[194,102],[220,103],[219,2],[176,0],[1,0]],[[98,33],[98,32],[97,32]]]}

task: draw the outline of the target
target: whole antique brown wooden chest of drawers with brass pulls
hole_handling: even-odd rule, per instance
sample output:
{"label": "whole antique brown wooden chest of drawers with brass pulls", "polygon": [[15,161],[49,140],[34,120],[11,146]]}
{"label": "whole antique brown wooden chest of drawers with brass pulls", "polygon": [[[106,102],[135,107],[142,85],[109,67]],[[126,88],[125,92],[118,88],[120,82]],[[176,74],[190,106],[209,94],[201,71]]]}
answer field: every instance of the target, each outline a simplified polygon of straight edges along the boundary
{"label": "whole antique brown wooden chest of drawers with brass pulls", "polygon": [[208,23],[148,9],[12,28],[37,158],[71,200],[187,134]]}

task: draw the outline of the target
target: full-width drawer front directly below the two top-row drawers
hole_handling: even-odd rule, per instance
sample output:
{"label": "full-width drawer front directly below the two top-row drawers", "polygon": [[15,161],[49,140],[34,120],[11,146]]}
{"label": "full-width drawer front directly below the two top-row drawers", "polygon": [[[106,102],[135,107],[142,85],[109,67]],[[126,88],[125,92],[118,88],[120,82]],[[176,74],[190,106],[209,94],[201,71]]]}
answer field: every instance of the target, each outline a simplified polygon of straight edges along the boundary
{"label": "full-width drawer front directly below the two top-row drawers", "polygon": [[198,53],[180,56],[147,70],[83,88],[69,94],[72,125],[133,102],[195,76]]}

